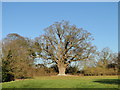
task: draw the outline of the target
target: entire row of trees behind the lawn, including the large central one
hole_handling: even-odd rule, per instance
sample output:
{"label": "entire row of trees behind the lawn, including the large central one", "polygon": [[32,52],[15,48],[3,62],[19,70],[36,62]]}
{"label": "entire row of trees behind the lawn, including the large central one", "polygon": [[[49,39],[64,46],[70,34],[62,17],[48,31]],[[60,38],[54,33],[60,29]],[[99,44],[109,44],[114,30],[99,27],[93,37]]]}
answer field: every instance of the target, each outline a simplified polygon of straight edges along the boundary
{"label": "entire row of trees behind the lawn, including the large central one", "polygon": [[[64,21],[35,39],[8,34],[0,42],[2,82],[57,74],[118,75],[118,53],[109,48],[98,51],[90,35]],[[44,63],[37,64],[36,58]]]}

